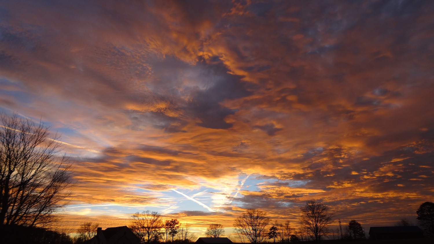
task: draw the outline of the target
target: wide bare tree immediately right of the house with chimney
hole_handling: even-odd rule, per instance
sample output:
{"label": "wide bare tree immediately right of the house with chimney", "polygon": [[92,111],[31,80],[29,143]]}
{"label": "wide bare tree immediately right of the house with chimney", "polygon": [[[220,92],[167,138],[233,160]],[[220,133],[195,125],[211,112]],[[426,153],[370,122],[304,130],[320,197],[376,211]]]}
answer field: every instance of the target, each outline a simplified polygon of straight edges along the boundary
{"label": "wide bare tree immediately right of the house with chimney", "polygon": [[140,238],[141,243],[158,241],[163,221],[158,212],[149,210],[135,213],[131,217],[131,230]]}

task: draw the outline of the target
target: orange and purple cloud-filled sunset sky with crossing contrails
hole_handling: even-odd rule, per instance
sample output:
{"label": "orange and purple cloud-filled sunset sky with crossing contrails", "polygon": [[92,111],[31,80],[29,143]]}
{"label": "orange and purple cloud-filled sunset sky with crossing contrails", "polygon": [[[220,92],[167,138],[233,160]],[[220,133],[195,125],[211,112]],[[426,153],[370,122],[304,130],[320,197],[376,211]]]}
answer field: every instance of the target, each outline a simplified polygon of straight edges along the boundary
{"label": "orange and purple cloud-filled sunset sky with crossing contrails", "polygon": [[[201,231],[316,199],[363,227],[434,201],[434,1],[0,0],[0,112],[62,134],[62,224]],[[335,222],[334,225],[336,225]]]}

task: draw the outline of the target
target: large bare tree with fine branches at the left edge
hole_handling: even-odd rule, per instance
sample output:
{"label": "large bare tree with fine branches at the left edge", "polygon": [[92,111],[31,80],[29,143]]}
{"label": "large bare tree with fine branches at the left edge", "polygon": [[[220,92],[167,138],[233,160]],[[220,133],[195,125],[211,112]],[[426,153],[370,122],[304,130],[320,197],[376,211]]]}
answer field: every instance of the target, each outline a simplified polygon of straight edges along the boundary
{"label": "large bare tree with fine branches at the left edge", "polygon": [[71,192],[70,165],[49,127],[0,115],[0,225],[44,227]]}

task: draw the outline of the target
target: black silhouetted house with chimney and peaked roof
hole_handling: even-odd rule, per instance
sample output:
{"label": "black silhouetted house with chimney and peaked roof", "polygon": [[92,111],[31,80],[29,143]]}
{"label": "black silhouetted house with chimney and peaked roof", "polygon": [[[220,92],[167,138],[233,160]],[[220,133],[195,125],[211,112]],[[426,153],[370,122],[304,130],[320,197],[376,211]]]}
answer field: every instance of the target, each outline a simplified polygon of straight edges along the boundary
{"label": "black silhouetted house with chimney and peaked roof", "polygon": [[126,226],[96,230],[96,235],[86,244],[140,244],[140,239]]}

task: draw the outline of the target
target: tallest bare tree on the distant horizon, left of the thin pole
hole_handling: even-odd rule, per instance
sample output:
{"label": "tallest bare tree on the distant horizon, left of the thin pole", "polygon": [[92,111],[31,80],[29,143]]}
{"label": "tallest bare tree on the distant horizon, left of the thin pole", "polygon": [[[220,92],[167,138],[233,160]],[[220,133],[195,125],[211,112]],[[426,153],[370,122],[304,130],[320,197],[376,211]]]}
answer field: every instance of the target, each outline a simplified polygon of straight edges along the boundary
{"label": "tallest bare tree on the distant horizon, left of the thin pole", "polygon": [[300,210],[302,212],[300,222],[306,229],[306,234],[312,240],[321,240],[321,236],[327,232],[327,226],[333,222],[334,215],[329,213],[329,207],[321,202],[310,200]]}

